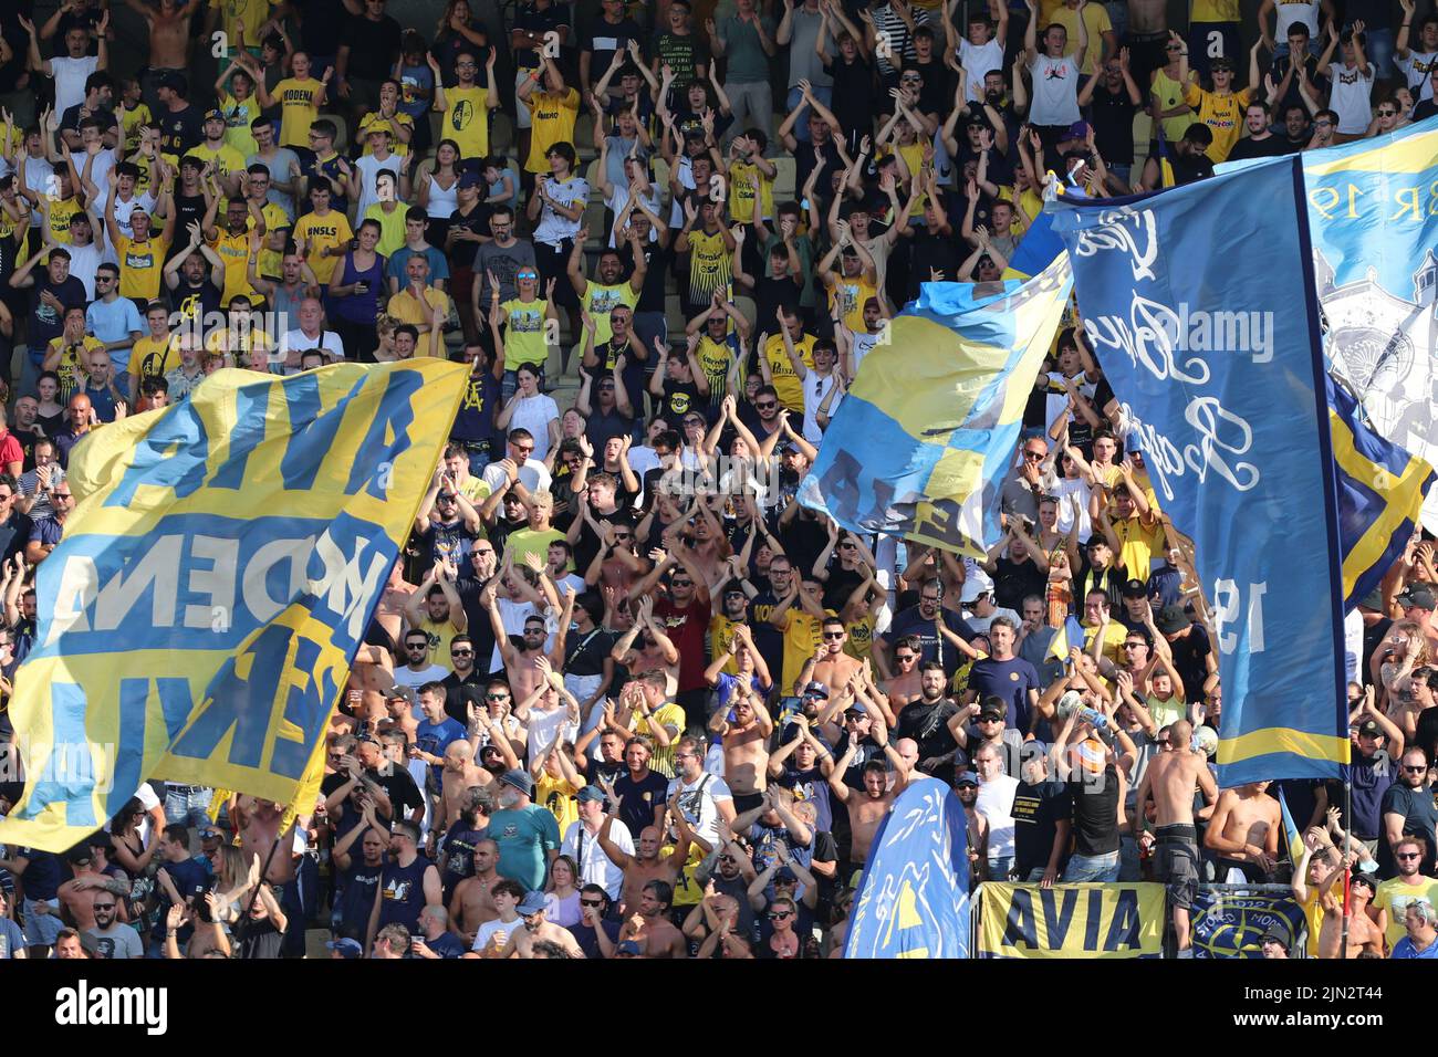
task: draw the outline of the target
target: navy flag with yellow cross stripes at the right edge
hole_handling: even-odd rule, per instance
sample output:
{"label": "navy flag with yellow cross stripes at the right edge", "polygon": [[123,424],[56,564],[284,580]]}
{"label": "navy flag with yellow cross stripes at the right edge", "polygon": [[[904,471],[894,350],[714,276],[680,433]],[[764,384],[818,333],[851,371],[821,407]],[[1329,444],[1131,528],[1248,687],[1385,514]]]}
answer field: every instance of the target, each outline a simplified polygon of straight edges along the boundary
{"label": "navy flag with yellow cross stripes at the right edge", "polygon": [[1357,401],[1332,375],[1329,426],[1337,463],[1343,607],[1349,611],[1402,557],[1418,528],[1434,469],[1369,429]]}

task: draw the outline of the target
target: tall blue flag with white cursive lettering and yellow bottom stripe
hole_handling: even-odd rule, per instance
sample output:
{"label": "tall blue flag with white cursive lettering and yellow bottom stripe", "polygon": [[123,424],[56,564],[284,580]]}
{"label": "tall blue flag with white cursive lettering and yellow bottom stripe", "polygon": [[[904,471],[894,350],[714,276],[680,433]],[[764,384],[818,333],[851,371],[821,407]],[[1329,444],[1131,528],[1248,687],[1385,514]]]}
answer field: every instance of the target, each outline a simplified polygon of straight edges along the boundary
{"label": "tall blue flag with white cursive lettering and yellow bottom stripe", "polygon": [[[1337,488],[1301,190],[1290,160],[1055,204],[1090,345],[1211,591],[1224,787],[1336,778],[1349,758]],[[1265,618],[1270,607],[1281,618]]]}

